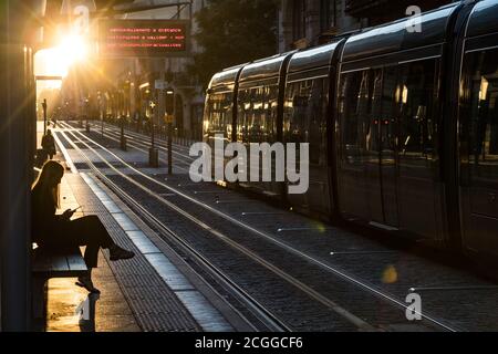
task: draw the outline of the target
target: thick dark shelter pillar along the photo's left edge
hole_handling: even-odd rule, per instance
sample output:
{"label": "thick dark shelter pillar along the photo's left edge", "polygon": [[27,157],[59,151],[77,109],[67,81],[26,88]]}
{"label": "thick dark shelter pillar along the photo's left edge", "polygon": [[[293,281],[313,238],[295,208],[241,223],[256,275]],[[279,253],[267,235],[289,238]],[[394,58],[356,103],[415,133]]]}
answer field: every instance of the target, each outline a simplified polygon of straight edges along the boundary
{"label": "thick dark shelter pillar along the photo's left edge", "polygon": [[[35,95],[28,81],[31,51],[20,33],[29,23],[30,8],[24,1],[0,1],[0,270],[1,330],[30,329],[31,309],[31,218],[30,184],[33,168],[30,125],[35,121]],[[29,102],[29,104],[27,104]]]}

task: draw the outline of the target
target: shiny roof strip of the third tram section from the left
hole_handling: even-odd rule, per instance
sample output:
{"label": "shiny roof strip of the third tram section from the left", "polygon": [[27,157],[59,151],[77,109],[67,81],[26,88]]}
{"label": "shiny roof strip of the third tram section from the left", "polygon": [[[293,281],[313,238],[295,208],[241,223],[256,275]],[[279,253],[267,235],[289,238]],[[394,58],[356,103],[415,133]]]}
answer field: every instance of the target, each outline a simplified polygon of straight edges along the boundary
{"label": "shiny roof strip of the third tram section from the left", "polygon": [[320,45],[310,50],[298,52],[292,55],[289,63],[289,73],[295,73],[303,70],[329,66],[332,58],[341,41]]}

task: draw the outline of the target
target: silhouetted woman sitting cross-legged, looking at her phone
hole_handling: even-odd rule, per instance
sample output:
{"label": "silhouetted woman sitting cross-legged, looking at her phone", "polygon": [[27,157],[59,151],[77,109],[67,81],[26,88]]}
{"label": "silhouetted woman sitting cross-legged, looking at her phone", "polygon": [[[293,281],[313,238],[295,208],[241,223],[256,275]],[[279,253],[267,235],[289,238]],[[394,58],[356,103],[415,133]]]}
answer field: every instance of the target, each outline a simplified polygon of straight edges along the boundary
{"label": "silhouetted woman sitting cross-legged, looking at her phone", "polygon": [[118,247],[97,216],[71,220],[74,210],[55,215],[60,206],[59,186],[64,168],[56,162],[48,162],[31,190],[33,241],[40,248],[64,250],[86,246],[84,259],[89,273],[79,278],[77,285],[98,293],[92,282],[92,269],[97,267],[98,250],[108,249],[112,261],[131,259],[135,253]]}

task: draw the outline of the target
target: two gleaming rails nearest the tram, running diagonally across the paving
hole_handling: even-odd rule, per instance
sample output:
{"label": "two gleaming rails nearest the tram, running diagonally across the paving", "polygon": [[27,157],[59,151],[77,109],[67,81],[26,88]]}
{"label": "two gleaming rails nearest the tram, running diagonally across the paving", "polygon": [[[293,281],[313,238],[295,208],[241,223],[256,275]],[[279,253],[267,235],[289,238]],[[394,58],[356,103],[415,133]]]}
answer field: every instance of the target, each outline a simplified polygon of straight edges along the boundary
{"label": "two gleaming rails nearest the tram, running diagonally across the paving", "polygon": [[[77,137],[76,134],[79,136],[81,136],[81,138]],[[92,144],[96,148],[102,148],[102,149],[105,150],[105,148],[102,145],[97,144],[94,140],[91,140],[87,136],[85,136],[81,132],[71,132],[71,135],[76,140],[79,140],[82,145],[85,145],[90,150],[92,150],[93,154],[100,156],[100,158],[103,162],[105,160],[95,150],[95,148],[91,147],[90,144]],[[90,144],[83,142],[82,138],[86,139]],[[75,148],[81,152],[81,149],[77,146],[75,146]],[[398,299],[395,299],[393,295],[391,295],[391,294],[388,294],[388,293],[386,293],[386,292],[384,292],[382,290],[378,290],[378,289],[372,287],[371,284],[362,281],[361,279],[355,278],[354,275],[351,275],[351,274],[347,274],[347,273],[343,272],[340,269],[336,269],[336,268],[333,268],[333,267],[331,267],[329,264],[325,264],[325,263],[321,262],[320,260],[314,259],[311,256],[309,256],[309,254],[307,254],[307,253],[304,253],[304,252],[302,252],[300,250],[297,250],[297,249],[292,248],[291,246],[282,242],[280,240],[278,240],[277,238],[272,237],[271,235],[268,235],[264,231],[258,230],[258,229],[251,227],[250,225],[247,225],[246,222],[237,220],[237,219],[232,218],[231,216],[226,215],[226,214],[221,212],[220,210],[217,210],[216,208],[212,208],[211,206],[208,206],[205,202],[201,202],[201,201],[199,201],[199,200],[197,200],[197,199],[195,199],[195,198],[193,198],[193,197],[181,192],[180,190],[178,190],[176,188],[173,188],[170,186],[167,186],[167,185],[165,185],[163,183],[157,181],[156,179],[154,179],[154,178],[143,174],[138,169],[136,169],[133,166],[131,166],[129,164],[125,163],[124,160],[122,160],[117,155],[113,154],[112,152],[107,150],[107,153],[110,153],[111,155],[114,155],[114,157],[117,158],[124,166],[126,166],[127,168],[131,168],[132,170],[134,170],[134,173],[137,176],[141,176],[141,178],[143,178],[144,180],[146,180],[146,181],[148,181],[151,184],[155,184],[155,185],[157,185],[160,188],[166,188],[169,192],[173,192],[174,195],[180,196],[184,200],[193,202],[197,207],[201,207],[205,210],[208,210],[211,214],[216,215],[217,217],[221,217],[225,220],[230,221],[232,225],[243,229],[245,231],[251,232],[251,233],[257,235],[258,237],[260,237],[260,238],[262,238],[262,239],[264,239],[267,241],[272,242],[273,244],[278,246],[282,250],[291,252],[294,256],[298,256],[300,259],[305,260],[307,262],[309,262],[311,264],[319,266],[322,270],[325,270],[329,273],[332,273],[332,274],[336,275],[342,281],[349,282],[350,284],[353,284],[355,288],[360,288],[362,291],[366,291],[367,293],[370,293],[370,294],[381,299],[382,301],[387,302],[391,305],[398,308],[400,310],[406,310],[407,309],[407,305],[405,303],[403,303]],[[106,163],[108,164],[108,162],[106,162]],[[343,308],[338,306],[336,303],[334,303],[333,301],[330,301],[330,299],[326,299],[326,296],[323,296],[322,294],[320,294],[315,290],[313,290],[310,287],[305,285],[301,281],[297,280],[294,277],[288,274],[287,272],[282,272],[280,269],[278,269],[273,264],[269,263],[268,261],[266,261],[264,259],[262,259],[261,257],[259,257],[258,254],[256,254],[255,252],[249,250],[247,247],[241,246],[240,243],[231,241],[226,235],[219,232],[218,230],[215,230],[214,228],[208,226],[205,221],[199,220],[196,217],[193,217],[191,215],[189,215],[184,209],[179,208],[178,206],[174,205],[173,202],[170,202],[170,201],[166,200],[165,198],[160,197],[157,194],[157,191],[154,191],[151,188],[144,187],[144,183],[137,183],[136,178],[134,179],[134,178],[131,178],[129,176],[125,176],[124,174],[122,174],[117,168],[115,168],[111,164],[108,164],[108,167],[111,169],[113,169],[116,174],[118,174],[118,175],[121,174],[122,177],[126,178],[131,184],[135,185],[137,188],[141,188],[142,190],[146,191],[149,196],[152,196],[155,199],[157,199],[159,202],[166,205],[172,210],[175,210],[177,214],[179,214],[183,217],[187,218],[189,221],[191,221],[191,222],[196,223],[197,226],[204,228],[205,230],[211,232],[212,235],[215,235],[219,239],[221,239],[225,242],[227,242],[231,248],[234,248],[237,251],[239,251],[239,252],[246,254],[247,257],[253,259],[255,261],[257,261],[262,267],[264,267],[268,270],[274,272],[276,274],[278,274],[282,279],[286,279],[286,281],[288,281],[289,283],[292,283],[295,288],[300,289],[301,291],[304,291],[311,299],[314,299],[315,301],[321,302],[322,304],[326,305],[329,309],[333,309],[343,319],[346,319],[347,321],[350,321],[352,323],[355,323],[355,325],[359,329],[373,330],[373,326],[371,326],[369,323],[365,323],[364,321],[362,321],[361,319],[352,315],[347,311],[344,311]],[[433,316],[430,316],[427,313],[423,313],[422,315],[423,315],[425,321],[432,323],[436,327],[439,327],[439,329],[442,329],[444,331],[457,331],[457,329],[454,329],[452,325],[448,325],[448,324],[444,323],[444,321],[438,320],[436,317],[433,317]]]}

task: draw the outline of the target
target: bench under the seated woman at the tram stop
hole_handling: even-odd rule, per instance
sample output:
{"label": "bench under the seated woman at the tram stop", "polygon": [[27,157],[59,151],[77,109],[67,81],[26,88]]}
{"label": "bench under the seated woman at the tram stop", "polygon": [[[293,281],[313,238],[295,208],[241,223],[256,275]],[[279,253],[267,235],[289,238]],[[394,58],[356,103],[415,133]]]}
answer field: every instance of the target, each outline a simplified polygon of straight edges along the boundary
{"label": "bench under the seated woman at the tram stop", "polygon": [[45,283],[52,278],[77,278],[87,272],[79,248],[51,252],[33,250],[32,267],[32,311],[33,320],[44,320],[46,315]]}

